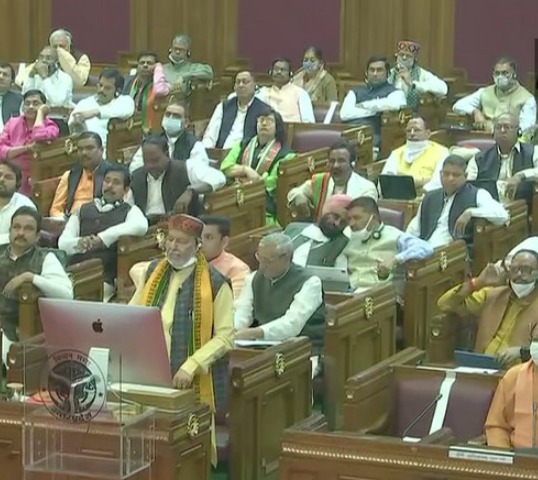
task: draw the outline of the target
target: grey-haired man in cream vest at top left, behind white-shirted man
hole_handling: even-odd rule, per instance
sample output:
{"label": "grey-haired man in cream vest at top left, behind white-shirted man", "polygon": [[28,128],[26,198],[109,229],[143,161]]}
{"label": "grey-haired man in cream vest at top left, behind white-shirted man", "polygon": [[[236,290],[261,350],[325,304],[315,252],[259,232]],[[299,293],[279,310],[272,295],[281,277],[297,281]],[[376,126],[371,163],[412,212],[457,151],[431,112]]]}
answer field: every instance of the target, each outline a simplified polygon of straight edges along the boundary
{"label": "grey-haired man in cream vest at top left, behind white-shirted man", "polygon": [[[50,34],[49,45],[58,52],[60,68],[71,77],[73,87],[78,88],[85,85],[90,75],[90,59],[88,55],[74,48],[71,32],[64,28],[54,30]],[[34,64],[31,64],[26,69],[22,69],[17,75],[15,83],[22,87],[33,67]]]}

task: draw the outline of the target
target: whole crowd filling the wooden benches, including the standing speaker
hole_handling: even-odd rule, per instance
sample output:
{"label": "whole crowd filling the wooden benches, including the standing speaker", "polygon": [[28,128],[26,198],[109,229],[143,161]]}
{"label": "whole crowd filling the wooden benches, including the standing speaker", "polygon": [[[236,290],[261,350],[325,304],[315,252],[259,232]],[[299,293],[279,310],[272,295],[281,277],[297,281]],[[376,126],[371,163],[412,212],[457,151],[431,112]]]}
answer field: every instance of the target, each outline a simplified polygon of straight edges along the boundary
{"label": "whole crowd filling the wooden benches, including the standing speaker", "polygon": [[[118,301],[119,285],[132,280],[129,304],[161,310],[174,387],[194,388],[215,411],[226,402],[226,392],[213,388],[222,383],[215,378],[228,375],[218,360],[234,341],[309,337],[312,375],[322,375],[329,294],[353,297],[391,287],[401,314],[408,268],[458,241],[471,263],[477,225],[508,228],[518,200],[532,216],[538,154],[523,135],[536,123],[536,101],[509,58],[495,64],[494,85],[453,106],[491,133],[486,148],[474,148],[445,144],[419,115],[421,95],[443,98],[448,87],[419,65],[417,43],[399,42],[394,65],[373,55],[365,82],[346,93],[338,113],[346,128],[371,132],[368,156],[379,167],[371,175],[361,168],[361,142],[338,135],[324,147],[326,165],[319,169],[306,167],[311,152],[298,151],[288,136],[290,124],[320,124],[317,104],[338,102],[337,81],[317,47],[305,50],[296,72],[290,60],[276,58],[265,85],[253,72],[237,73],[234,91],[224,92],[210,119],[190,118],[191,83],[214,77],[211,66],[191,60],[190,50],[190,38],[178,35],[165,64],[141,52],[132,75],[105,68],[87,87],[93,93],[77,102],[73,92],[91,81],[91,65],[68,31],[53,32],[36,61],[17,75],[0,63],[4,365],[11,344],[23,339],[20,287],[30,283],[42,296],[76,299],[67,269],[98,259],[103,301]],[[155,106],[162,99],[159,118]],[[58,107],[69,113],[55,114]],[[380,158],[382,115],[402,109],[413,112],[401,128],[403,145]],[[120,164],[109,122],[138,116],[142,131],[130,145],[135,153],[128,165]],[[194,128],[200,120],[208,120],[201,134]],[[32,162],[69,132],[76,162],[58,178],[42,215],[33,201],[39,198]],[[222,151],[220,161],[214,149]],[[282,169],[302,154],[308,173],[282,196]],[[241,206],[237,191],[248,185],[260,186],[263,223],[273,229],[257,244],[255,268],[252,259],[232,253],[233,219],[208,211],[212,198],[231,190],[229,203]],[[399,197],[408,187],[412,196]],[[413,207],[407,220],[403,206]],[[247,215],[249,207],[247,198]],[[59,233],[53,245],[41,232],[50,228],[45,223]],[[130,279],[120,279],[121,242],[153,238],[157,231],[164,234],[162,252],[129,265]],[[502,448],[535,446],[529,425],[538,422],[538,239],[516,241],[522,243],[506,257],[490,258],[481,273],[436,298],[438,312],[474,317],[474,352],[512,367],[485,423],[488,445]],[[346,279],[339,290],[328,279],[335,273]]]}

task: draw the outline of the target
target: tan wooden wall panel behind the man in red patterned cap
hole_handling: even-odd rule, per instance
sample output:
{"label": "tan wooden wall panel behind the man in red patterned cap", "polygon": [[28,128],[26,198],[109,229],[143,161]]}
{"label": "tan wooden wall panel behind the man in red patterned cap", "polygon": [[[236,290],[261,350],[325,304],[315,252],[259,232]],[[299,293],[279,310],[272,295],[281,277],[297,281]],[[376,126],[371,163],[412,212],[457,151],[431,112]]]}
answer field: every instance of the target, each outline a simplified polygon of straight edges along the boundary
{"label": "tan wooden wall panel behind the man in red patterned cap", "polygon": [[394,62],[398,40],[421,44],[419,61],[439,75],[454,63],[455,0],[341,0],[340,62],[364,77],[371,55]]}

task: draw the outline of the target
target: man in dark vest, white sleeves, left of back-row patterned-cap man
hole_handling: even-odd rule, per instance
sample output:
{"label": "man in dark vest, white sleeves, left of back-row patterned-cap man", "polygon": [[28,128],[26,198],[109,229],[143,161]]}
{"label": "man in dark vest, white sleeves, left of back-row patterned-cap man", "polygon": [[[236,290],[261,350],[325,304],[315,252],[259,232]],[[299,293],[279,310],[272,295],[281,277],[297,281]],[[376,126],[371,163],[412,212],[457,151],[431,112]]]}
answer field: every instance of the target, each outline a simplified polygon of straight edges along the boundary
{"label": "man in dark vest, white sleeves, left of back-row patterned-cap man", "polygon": [[340,108],[344,123],[372,127],[375,148],[381,145],[381,113],[407,105],[405,93],[388,82],[389,71],[386,57],[370,57],[366,64],[366,84],[350,90]]}

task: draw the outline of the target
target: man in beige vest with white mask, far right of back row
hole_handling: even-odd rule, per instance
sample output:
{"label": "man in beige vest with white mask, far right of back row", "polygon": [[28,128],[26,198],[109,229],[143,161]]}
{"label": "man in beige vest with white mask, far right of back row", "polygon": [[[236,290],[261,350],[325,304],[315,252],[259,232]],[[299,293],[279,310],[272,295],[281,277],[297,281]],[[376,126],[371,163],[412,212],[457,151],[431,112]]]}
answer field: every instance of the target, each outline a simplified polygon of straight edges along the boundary
{"label": "man in beige vest with white mask, far right of back row", "polygon": [[493,67],[493,85],[479,88],[458,100],[452,109],[460,115],[472,115],[477,130],[493,130],[493,119],[502,112],[513,111],[523,131],[536,123],[536,100],[517,77],[516,62],[502,57]]}

